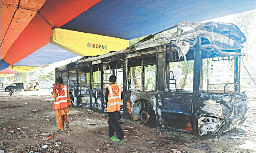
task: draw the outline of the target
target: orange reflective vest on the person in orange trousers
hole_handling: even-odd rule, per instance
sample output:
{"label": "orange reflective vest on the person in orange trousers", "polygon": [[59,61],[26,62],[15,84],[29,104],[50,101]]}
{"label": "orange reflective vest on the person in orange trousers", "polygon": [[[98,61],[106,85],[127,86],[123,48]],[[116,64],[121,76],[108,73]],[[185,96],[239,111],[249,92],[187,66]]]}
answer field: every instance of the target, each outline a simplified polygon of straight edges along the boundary
{"label": "orange reflective vest on the person in orange trousers", "polygon": [[[57,97],[55,98],[53,109],[62,109],[67,108],[70,105],[70,102],[68,101],[68,87],[66,85],[63,85],[64,88],[61,93],[56,89]],[[61,85],[61,87],[63,87]]]}

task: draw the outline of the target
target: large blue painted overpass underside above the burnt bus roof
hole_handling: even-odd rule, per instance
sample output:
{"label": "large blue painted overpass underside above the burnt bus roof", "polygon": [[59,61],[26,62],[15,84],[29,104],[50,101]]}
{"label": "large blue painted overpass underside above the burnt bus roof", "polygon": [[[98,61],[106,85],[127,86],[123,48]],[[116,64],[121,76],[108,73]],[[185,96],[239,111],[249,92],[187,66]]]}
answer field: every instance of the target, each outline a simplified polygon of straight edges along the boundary
{"label": "large blue painted overpass underside above the burnt bus roof", "polygon": [[252,9],[255,0],[103,0],[61,28],[130,40]]}

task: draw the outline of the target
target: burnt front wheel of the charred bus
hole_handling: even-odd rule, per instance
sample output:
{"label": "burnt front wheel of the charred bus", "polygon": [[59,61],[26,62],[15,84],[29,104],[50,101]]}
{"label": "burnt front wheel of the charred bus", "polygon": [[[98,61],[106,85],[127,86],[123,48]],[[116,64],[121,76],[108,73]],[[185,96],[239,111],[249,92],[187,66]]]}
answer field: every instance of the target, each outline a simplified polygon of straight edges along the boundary
{"label": "burnt front wheel of the charred bus", "polygon": [[143,108],[140,111],[141,123],[145,126],[155,127],[156,126],[156,114],[152,108]]}

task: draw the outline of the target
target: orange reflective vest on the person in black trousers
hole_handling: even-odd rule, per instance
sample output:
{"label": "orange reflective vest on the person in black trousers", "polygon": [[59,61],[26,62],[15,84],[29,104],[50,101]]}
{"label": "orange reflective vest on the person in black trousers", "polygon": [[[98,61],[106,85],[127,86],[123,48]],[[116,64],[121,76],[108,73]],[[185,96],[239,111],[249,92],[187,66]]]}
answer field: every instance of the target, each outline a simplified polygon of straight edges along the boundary
{"label": "orange reflective vest on the person in black trousers", "polygon": [[117,84],[110,84],[108,88],[107,112],[120,111],[122,88]]}

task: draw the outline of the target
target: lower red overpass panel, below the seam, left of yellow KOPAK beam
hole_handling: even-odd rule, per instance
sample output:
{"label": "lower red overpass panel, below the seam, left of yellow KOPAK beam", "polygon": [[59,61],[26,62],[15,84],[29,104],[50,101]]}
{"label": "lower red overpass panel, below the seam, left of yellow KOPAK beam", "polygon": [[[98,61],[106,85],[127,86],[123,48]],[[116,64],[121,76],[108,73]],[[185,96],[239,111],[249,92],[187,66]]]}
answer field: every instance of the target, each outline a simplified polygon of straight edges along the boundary
{"label": "lower red overpass panel, below the seam, left of yellow KOPAK beam", "polygon": [[19,62],[49,43],[51,36],[51,26],[37,13],[18,39],[12,44],[3,58],[4,61],[9,65]]}

